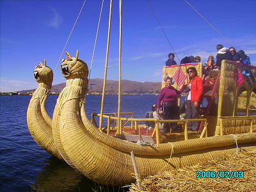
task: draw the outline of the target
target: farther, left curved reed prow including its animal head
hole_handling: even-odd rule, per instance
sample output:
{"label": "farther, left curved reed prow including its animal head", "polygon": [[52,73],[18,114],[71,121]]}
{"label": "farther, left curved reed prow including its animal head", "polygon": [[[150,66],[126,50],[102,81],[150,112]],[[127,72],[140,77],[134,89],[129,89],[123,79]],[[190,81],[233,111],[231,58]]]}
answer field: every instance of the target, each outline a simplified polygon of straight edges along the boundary
{"label": "farther, left curved reed prow including its animal head", "polygon": [[34,72],[38,88],[33,93],[27,111],[28,129],[36,143],[44,148],[49,154],[62,159],[55,146],[52,136],[52,118],[49,116],[45,103],[52,88],[53,72],[50,67],[41,62],[36,66]]}

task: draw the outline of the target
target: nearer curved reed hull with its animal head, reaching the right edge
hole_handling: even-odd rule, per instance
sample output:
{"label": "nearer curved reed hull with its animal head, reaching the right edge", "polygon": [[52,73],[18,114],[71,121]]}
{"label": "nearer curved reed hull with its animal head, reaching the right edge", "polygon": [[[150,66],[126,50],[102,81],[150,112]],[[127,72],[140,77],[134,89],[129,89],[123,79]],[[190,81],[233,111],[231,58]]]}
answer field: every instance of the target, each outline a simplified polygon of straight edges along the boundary
{"label": "nearer curved reed hull with its animal head, reaching the right edge", "polygon": [[142,146],[100,132],[86,116],[88,68],[72,58],[61,64],[67,87],[61,92],[53,116],[53,135],[65,161],[100,184],[124,185],[135,181],[131,152],[141,177],[180,168],[237,151],[256,149],[256,133],[200,138]]}

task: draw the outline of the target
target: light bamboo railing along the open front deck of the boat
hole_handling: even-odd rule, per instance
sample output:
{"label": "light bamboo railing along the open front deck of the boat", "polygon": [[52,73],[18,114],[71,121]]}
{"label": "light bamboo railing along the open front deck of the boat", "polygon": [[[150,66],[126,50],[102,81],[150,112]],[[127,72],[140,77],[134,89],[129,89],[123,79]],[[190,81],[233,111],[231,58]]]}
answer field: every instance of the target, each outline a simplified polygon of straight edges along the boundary
{"label": "light bamboo railing along the open front deck of the boat", "polygon": [[[116,122],[118,117],[116,113],[103,113],[102,117],[107,119],[108,124],[106,127],[102,128],[101,131],[106,132],[106,134],[110,135],[111,130],[115,130],[115,136],[118,134],[122,134],[125,129],[134,129],[134,133],[138,135],[138,141],[141,141],[142,134],[141,128],[142,126],[139,125],[140,122],[145,121],[152,121],[155,124],[155,129],[151,134],[151,137],[154,138],[156,136],[156,143],[159,144],[160,142],[160,130],[159,124],[163,123],[183,123],[184,124],[184,140],[188,140],[188,123],[189,122],[204,122],[204,129],[200,133],[200,138],[207,137],[207,118],[198,118],[198,119],[184,119],[184,120],[159,120],[157,118],[133,118],[133,113],[121,113],[121,115],[130,115],[131,118],[121,117],[121,129],[119,130],[116,127]],[[95,120],[95,116],[100,116],[99,113],[92,113],[92,123],[97,126],[97,121]],[[131,122],[129,126],[127,124]],[[146,132],[146,136],[148,136],[148,130]]]}

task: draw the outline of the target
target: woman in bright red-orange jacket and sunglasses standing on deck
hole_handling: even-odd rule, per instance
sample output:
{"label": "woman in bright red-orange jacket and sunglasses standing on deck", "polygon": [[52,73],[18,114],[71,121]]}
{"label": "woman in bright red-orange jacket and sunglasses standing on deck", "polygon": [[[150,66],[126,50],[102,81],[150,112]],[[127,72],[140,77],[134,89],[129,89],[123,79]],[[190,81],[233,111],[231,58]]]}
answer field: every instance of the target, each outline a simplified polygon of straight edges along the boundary
{"label": "woman in bright red-orange jacket and sunglasses standing on deck", "polygon": [[[189,67],[188,70],[189,81],[187,88],[189,88],[185,119],[196,119],[199,115],[200,101],[203,94],[203,81],[197,76],[195,67]],[[188,122],[188,131],[197,131],[200,122]]]}

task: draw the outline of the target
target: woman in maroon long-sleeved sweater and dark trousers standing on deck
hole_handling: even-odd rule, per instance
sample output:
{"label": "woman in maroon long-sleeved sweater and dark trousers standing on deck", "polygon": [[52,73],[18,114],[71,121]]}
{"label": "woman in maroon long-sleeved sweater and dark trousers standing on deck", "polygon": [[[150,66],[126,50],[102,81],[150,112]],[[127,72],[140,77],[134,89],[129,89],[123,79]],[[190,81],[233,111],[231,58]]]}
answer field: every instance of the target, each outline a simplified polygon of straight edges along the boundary
{"label": "woman in maroon long-sleeved sweater and dark trousers standing on deck", "polygon": [[[163,115],[164,120],[179,119],[179,107],[177,104],[177,95],[180,95],[184,91],[184,86],[178,91],[172,84],[175,81],[171,77],[166,78],[166,85],[161,89],[159,97],[157,99],[157,113],[160,113],[160,104],[163,102]],[[163,133],[170,132],[168,123],[164,123]],[[179,132],[177,123],[172,123],[172,132]]]}

